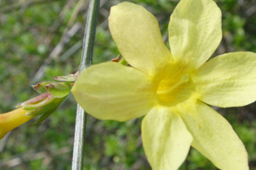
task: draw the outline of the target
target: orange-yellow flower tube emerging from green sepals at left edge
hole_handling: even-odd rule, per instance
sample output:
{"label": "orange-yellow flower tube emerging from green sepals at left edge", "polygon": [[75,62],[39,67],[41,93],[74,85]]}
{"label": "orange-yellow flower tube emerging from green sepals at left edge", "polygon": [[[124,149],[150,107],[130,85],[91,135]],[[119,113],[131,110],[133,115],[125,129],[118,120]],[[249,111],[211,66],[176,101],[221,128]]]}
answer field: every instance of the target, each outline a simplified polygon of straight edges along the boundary
{"label": "orange-yellow flower tube emerging from green sepals at left edge", "polygon": [[0,139],[2,139],[10,130],[33,118],[26,116],[26,112],[27,111],[22,108],[19,108],[8,113],[0,114]]}

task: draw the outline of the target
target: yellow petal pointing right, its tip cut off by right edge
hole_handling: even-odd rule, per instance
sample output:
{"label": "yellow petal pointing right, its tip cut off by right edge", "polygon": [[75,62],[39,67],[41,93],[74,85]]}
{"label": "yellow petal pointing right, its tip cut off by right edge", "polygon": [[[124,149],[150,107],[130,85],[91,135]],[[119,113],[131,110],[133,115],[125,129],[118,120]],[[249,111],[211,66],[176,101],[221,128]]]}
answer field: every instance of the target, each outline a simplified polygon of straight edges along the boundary
{"label": "yellow petal pointing right, its tip cut off by right edge", "polygon": [[209,105],[248,105],[256,100],[256,53],[227,53],[210,59],[192,79],[200,99]]}

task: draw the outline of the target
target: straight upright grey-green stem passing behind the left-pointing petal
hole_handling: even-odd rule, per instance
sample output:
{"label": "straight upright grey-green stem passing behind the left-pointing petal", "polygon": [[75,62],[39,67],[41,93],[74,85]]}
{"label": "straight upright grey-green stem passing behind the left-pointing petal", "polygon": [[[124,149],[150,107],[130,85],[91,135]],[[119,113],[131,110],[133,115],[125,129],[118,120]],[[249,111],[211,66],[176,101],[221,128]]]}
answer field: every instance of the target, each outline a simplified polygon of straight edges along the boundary
{"label": "straight upright grey-green stem passing behind the left-pointing petal", "polygon": [[[85,68],[92,65],[99,2],[100,0],[90,0],[79,71],[83,71]],[[83,169],[85,128],[86,113],[80,105],[77,105],[72,170]]]}

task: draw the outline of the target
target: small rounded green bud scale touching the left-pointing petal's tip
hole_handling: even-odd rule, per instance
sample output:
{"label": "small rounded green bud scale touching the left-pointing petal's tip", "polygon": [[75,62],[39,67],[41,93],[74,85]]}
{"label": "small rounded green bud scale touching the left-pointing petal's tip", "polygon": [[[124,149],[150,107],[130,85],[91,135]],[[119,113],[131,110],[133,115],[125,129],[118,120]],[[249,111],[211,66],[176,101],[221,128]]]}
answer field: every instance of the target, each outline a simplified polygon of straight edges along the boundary
{"label": "small rounded green bud scale touching the left-pointing petal's tip", "polygon": [[70,82],[51,82],[45,86],[47,91],[56,98],[62,98],[70,94]]}

